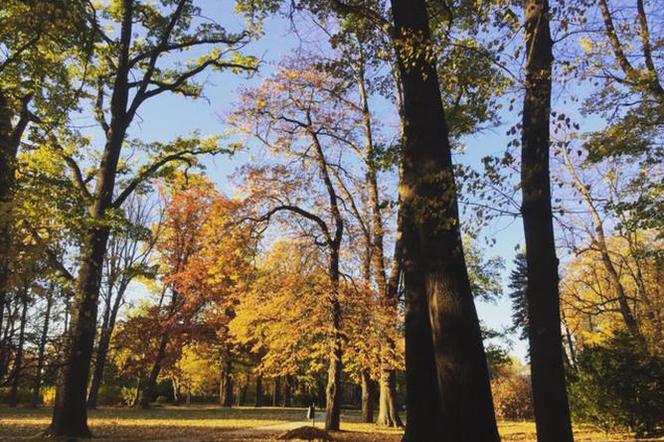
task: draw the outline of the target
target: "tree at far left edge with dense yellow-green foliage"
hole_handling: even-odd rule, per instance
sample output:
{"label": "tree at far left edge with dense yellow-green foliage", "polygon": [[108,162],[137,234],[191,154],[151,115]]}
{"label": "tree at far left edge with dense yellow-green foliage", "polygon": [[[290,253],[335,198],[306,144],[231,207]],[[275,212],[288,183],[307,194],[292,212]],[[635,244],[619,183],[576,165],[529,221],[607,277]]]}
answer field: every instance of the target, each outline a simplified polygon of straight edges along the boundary
{"label": "tree at far left edge with dense yellow-green foliage", "polygon": [[[0,30],[0,329],[10,271],[17,154],[78,103],[72,71],[91,48],[86,2],[8,0]],[[5,50],[6,49],[6,50]],[[37,123],[40,130],[30,130]],[[29,133],[32,132],[32,133]]]}

